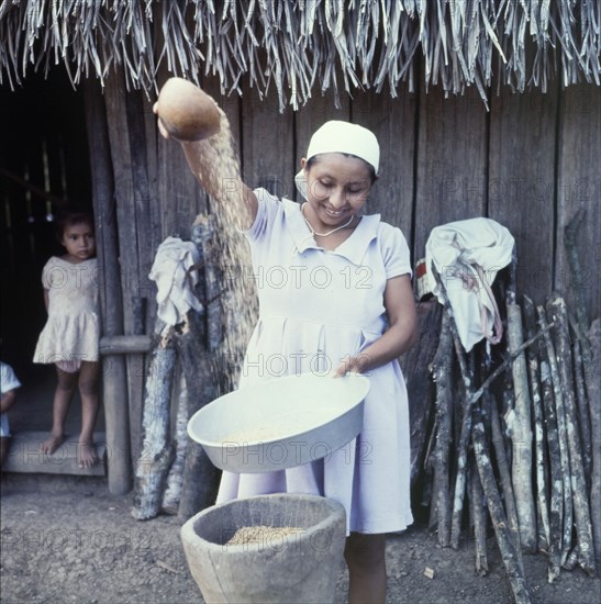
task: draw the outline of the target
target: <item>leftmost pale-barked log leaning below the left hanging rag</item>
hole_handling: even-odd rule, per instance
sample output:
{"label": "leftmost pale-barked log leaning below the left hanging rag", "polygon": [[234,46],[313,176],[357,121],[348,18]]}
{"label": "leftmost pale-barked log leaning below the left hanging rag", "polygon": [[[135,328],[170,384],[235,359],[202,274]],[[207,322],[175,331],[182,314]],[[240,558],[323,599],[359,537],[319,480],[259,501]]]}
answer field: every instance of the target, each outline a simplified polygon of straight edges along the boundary
{"label": "leftmost pale-barked log leaning below the left hanging rag", "polygon": [[175,456],[170,435],[175,329],[165,326],[151,351],[142,415],[142,450],[136,466],[132,516],[154,518],[160,511],[165,480]]}

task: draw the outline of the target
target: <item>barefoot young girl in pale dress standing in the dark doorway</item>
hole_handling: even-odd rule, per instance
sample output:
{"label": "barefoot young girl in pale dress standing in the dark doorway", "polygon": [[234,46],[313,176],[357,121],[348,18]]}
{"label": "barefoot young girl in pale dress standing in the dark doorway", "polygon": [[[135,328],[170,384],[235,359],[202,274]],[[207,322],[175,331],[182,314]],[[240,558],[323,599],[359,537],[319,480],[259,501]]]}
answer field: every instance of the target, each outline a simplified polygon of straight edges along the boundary
{"label": "barefoot young girl in pale dress standing in the dark doorway", "polygon": [[51,435],[40,448],[49,455],[65,439],[65,420],[79,385],[81,433],[77,457],[79,467],[88,468],[98,461],[93,428],[98,413],[100,320],[93,220],[89,212],[67,210],[58,216],[56,227],[66,254],[53,256],[42,272],[48,320],[33,360],[54,363],[58,383]]}

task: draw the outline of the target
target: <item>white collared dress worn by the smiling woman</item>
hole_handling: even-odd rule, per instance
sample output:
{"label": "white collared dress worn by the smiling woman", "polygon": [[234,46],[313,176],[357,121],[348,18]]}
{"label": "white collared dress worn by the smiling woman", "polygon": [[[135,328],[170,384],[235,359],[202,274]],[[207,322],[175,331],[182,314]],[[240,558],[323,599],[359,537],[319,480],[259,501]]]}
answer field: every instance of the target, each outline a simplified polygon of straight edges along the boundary
{"label": "white collared dress worn by the smiling woman", "polygon": [[[245,233],[256,280],[259,320],[240,387],[311,371],[329,378],[386,329],[387,279],[411,275],[399,228],[363,216],[335,250],[319,247],[300,205],[255,191],[257,217]],[[218,502],[274,492],[312,493],[341,502],[347,528],[390,533],[412,523],[407,389],[397,361],[367,373],[364,429],[356,441],[305,466],[269,473],[224,472]],[[268,424],[269,418],[265,418]]]}

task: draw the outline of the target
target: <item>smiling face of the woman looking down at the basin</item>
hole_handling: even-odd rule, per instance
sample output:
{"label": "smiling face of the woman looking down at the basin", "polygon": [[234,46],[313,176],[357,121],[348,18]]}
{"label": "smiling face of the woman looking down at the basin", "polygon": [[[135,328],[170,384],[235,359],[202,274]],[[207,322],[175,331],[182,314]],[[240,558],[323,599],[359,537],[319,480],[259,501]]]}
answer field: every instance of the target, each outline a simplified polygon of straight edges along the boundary
{"label": "smiling face of the woman looking down at the basin", "polygon": [[[301,160],[307,178],[307,201],[324,227],[336,227],[361,210],[371,189],[369,164],[342,153],[324,153]],[[319,230],[320,225],[313,225]]]}

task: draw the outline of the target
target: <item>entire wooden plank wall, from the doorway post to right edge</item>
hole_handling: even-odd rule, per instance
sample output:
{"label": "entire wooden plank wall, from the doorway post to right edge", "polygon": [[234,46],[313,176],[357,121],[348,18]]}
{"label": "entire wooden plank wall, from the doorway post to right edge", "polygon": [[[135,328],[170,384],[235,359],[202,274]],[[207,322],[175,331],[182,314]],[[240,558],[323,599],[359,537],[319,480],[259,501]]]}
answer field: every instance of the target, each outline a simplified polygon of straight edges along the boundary
{"label": "entire wooden plank wall, from the doorway post to right edge", "polygon": [[[163,75],[163,81],[167,75]],[[381,145],[381,178],[368,212],[400,226],[413,262],[424,256],[430,231],[446,222],[488,216],[505,225],[517,244],[519,294],[535,302],[557,289],[571,302],[563,228],[579,208],[587,221],[579,237],[586,268],[589,317],[599,316],[601,88],[492,94],[487,111],[475,90],[445,99],[431,88],[391,99],[360,93],[315,93],[294,113],[278,111],[277,98],[224,94],[215,78],[203,86],[226,112],[243,177],[249,186],[296,198],[293,176],[312,132],[331,119],[371,128]],[[109,135],[115,170],[125,334],[132,333],[132,299],[147,300],[146,333],[153,328],[156,287],[147,275],[159,243],[188,238],[210,202],[189,172],[183,154],[157,133],[154,99],[126,92],[122,75],[107,82]],[[125,110],[123,108],[126,108]],[[130,356],[130,373],[134,358]],[[132,447],[140,435],[143,371],[131,376]],[[138,444],[140,445],[140,444]]]}

